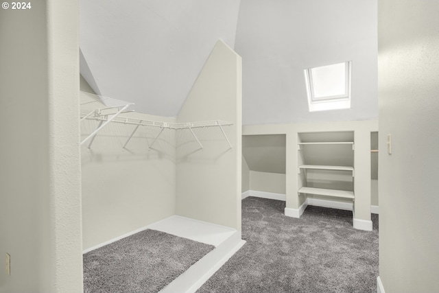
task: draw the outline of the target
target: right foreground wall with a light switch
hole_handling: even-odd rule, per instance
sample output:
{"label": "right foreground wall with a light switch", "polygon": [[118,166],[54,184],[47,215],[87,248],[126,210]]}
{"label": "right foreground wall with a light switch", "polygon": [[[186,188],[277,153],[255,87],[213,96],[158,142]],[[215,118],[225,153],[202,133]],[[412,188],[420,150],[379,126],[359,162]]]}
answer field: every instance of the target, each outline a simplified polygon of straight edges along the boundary
{"label": "right foreground wall with a light switch", "polygon": [[379,276],[386,293],[438,292],[439,2],[378,11]]}

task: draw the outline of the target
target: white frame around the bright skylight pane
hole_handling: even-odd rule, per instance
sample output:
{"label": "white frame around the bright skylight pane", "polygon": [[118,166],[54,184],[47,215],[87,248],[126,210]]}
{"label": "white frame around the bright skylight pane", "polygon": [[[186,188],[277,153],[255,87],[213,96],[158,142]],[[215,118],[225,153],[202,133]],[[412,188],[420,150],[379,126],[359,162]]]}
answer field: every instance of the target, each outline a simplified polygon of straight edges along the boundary
{"label": "white frame around the bright skylight pane", "polygon": [[[312,69],[319,68],[319,67],[312,67],[309,69],[305,69],[305,83],[307,86],[307,96],[308,96],[308,106],[309,111],[321,111],[321,110],[339,110],[339,109],[346,109],[351,108],[351,67],[352,62],[346,61],[346,62],[339,62],[334,63],[333,65],[338,65],[344,63],[345,71],[344,71],[344,78],[345,78],[345,93],[343,95],[330,95],[330,96],[323,96],[323,97],[315,97],[314,91],[313,91],[313,80],[312,80]],[[331,65],[322,65],[324,66],[331,66]]]}

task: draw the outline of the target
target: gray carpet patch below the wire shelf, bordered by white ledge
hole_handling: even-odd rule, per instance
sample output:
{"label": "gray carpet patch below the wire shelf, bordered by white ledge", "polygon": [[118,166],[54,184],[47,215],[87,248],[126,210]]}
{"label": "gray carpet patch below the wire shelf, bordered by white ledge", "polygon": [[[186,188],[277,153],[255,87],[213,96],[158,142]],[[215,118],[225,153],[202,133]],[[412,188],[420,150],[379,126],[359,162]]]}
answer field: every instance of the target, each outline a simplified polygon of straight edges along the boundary
{"label": "gray carpet patch below the wire shelf, bordered by white ledge", "polygon": [[145,230],[84,255],[84,292],[158,292],[214,246]]}

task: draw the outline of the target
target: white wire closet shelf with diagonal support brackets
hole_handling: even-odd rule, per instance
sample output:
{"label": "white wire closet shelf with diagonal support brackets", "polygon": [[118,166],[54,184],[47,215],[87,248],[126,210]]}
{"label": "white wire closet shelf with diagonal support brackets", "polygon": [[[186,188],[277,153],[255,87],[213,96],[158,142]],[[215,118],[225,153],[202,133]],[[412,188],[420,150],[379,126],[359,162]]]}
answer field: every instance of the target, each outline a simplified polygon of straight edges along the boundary
{"label": "white wire closet shelf with diagonal support brackets", "polygon": [[152,121],[152,120],[143,120],[139,118],[133,117],[123,117],[121,114],[123,113],[132,113],[134,110],[128,110],[128,107],[134,105],[134,103],[126,102],[121,99],[114,99],[110,97],[103,97],[102,95],[94,95],[92,93],[81,92],[81,113],[80,113],[80,121],[95,120],[99,121],[97,128],[91,132],[85,139],[81,141],[81,145],[89,141],[88,149],[91,148],[91,145],[97,135],[97,133],[102,130],[107,124],[112,123],[120,123],[120,124],[130,124],[135,125],[133,132],[128,137],[128,140],[123,145],[123,148],[126,148],[126,145],[130,142],[135,132],[139,129],[140,126],[149,126],[161,128],[158,132],[154,141],[149,145],[148,148],[152,148],[152,145],[157,141],[158,137],[160,137],[161,133],[165,129],[172,130],[185,130],[188,129],[195,140],[200,145],[200,149],[203,148],[202,143],[196,136],[195,132],[193,132],[193,128],[209,128],[209,127],[218,127],[224,139],[226,139],[230,148],[232,148],[232,144],[230,143],[226,132],[224,132],[223,126],[232,126],[233,123],[222,120],[211,120],[211,121],[195,121],[195,122],[184,122],[184,123],[169,123],[163,121]]}

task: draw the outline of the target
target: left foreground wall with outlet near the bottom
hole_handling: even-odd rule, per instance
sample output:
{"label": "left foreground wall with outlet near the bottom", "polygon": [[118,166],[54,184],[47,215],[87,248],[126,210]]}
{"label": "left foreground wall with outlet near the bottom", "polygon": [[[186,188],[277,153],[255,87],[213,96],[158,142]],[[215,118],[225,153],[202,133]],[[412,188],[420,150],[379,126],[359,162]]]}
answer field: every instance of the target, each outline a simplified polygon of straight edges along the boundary
{"label": "left foreground wall with outlet near the bottom", "polygon": [[0,19],[0,292],[82,292],[78,3]]}

